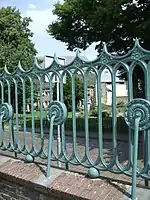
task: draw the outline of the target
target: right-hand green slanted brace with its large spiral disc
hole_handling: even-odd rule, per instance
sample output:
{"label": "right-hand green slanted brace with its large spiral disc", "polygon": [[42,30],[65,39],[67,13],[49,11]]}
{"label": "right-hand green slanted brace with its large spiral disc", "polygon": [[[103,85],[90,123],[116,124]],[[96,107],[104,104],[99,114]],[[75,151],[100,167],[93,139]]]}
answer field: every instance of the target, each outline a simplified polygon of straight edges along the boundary
{"label": "right-hand green slanted brace with its large spiral disc", "polygon": [[138,160],[139,131],[150,128],[150,102],[145,99],[134,99],[125,109],[125,121],[134,130],[133,169],[132,169],[132,200],[136,200],[136,178]]}

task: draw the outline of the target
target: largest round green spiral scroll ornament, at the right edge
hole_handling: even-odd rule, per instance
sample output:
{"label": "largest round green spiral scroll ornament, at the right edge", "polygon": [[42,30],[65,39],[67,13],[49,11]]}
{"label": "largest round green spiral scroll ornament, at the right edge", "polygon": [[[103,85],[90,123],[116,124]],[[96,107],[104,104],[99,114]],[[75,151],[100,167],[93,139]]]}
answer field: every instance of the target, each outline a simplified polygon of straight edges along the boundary
{"label": "largest round green spiral scroll ornament, at the right edge", "polygon": [[125,108],[124,119],[127,125],[134,129],[135,119],[140,117],[139,131],[150,128],[150,102],[145,99],[134,99]]}

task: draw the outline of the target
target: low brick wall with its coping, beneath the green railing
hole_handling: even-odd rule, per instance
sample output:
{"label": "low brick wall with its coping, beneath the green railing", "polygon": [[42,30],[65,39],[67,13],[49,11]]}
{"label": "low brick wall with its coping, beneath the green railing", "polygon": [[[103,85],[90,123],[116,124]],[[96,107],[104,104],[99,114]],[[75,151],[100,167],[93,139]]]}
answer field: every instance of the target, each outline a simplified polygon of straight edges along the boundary
{"label": "low brick wall with its coping, beneath the green railing", "polygon": [[104,179],[56,168],[51,168],[47,179],[45,169],[38,163],[0,155],[0,200],[120,200],[126,192],[124,184],[116,187]]}

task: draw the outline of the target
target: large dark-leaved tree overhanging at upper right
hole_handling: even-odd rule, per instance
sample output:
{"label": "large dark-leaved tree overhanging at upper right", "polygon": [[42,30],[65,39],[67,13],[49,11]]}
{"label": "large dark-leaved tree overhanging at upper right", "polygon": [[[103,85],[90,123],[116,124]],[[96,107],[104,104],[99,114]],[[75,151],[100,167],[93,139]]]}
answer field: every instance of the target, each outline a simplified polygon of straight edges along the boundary
{"label": "large dark-leaved tree overhanging at upper right", "polygon": [[[57,20],[48,26],[47,31],[57,40],[66,43],[67,49],[71,51],[76,47],[84,50],[93,42],[99,42],[96,49],[100,52],[101,41],[104,41],[110,52],[122,55],[133,47],[135,37],[140,40],[144,48],[149,49],[150,1],[132,2],[132,0],[58,2],[53,10]],[[143,85],[143,75],[140,76],[140,72],[141,69],[137,69],[133,79],[137,80],[138,75]],[[135,87],[137,85],[134,84]]]}

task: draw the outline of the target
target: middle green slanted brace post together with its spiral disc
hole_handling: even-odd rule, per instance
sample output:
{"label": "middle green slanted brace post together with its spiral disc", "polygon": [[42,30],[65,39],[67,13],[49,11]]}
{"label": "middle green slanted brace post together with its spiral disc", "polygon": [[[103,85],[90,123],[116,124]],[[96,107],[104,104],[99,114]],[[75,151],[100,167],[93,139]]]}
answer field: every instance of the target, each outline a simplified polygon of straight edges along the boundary
{"label": "middle green slanted brace post together with its spiral disc", "polygon": [[[48,141],[48,161],[47,161],[47,178],[50,178],[50,165],[52,155],[52,139],[53,139],[53,126],[60,126],[67,119],[68,113],[66,105],[60,101],[53,101],[47,107],[47,118],[50,121],[49,141]],[[59,152],[61,153],[61,152]],[[58,155],[59,156],[59,155]],[[59,159],[58,159],[59,160]]]}

